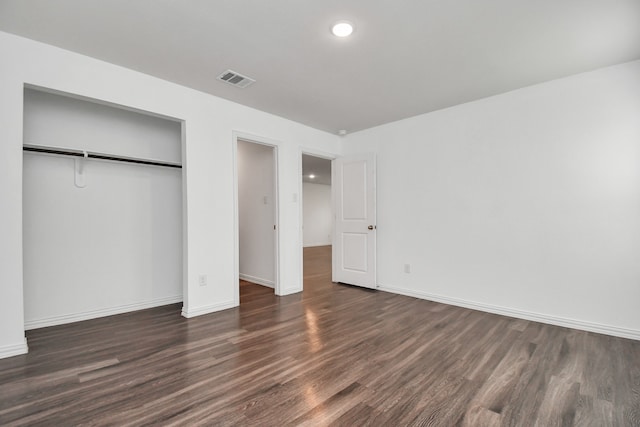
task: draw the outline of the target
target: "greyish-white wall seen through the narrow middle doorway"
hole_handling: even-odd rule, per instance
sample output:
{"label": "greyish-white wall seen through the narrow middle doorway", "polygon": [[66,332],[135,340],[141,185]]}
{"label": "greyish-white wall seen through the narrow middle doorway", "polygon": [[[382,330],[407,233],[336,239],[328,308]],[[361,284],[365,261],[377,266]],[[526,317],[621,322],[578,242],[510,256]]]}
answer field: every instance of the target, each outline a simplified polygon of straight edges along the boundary
{"label": "greyish-white wall seen through the narrow middle doorway", "polygon": [[240,278],[275,285],[274,148],[238,141]]}

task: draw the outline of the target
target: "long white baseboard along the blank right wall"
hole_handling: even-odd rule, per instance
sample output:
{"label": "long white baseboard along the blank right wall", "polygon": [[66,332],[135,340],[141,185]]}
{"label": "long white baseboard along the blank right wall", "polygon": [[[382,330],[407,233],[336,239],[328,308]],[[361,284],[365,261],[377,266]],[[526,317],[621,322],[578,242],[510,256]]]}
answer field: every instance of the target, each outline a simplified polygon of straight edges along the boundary
{"label": "long white baseboard along the blank right wall", "polygon": [[547,323],[565,328],[580,329],[582,331],[596,332],[598,334],[612,335],[614,337],[640,340],[640,331],[635,329],[621,328],[617,326],[604,325],[601,323],[587,322],[584,320],[567,319],[564,317],[551,316],[548,314],[534,313],[530,311],[516,310],[507,307],[477,303],[473,301],[450,298],[442,295],[434,295],[426,292],[414,291],[395,286],[378,285],[378,289],[394,294],[406,295],[414,298],[440,302],[443,304],[455,305],[458,307],[470,308],[473,310],[485,311],[488,313],[500,314],[518,319],[532,320],[534,322]]}

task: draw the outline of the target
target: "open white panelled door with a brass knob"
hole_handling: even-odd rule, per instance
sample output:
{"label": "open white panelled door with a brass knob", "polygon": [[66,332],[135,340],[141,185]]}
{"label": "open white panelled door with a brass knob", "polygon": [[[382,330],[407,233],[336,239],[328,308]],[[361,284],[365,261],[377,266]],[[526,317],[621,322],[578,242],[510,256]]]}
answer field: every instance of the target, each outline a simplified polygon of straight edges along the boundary
{"label": "open white panelled door with a brass knob", "polygon": [[374,153],[333,161],[333,281],[376,288],[376,163]]}

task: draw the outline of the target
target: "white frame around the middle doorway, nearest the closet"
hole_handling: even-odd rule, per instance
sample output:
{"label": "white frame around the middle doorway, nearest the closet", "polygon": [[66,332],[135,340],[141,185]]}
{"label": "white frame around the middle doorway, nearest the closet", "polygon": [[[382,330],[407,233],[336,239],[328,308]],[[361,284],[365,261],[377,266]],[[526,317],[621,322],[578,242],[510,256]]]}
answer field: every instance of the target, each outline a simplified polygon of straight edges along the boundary
{"label": "white frame around the middle doorway, nearest the closet", "polygon": [[233,167],[233,303],[234,306],[240,305],[240,218],[238,206],[238,140],[250,142],[252,144],[264,145],[273,149],[273,199],[274,199],[274,222],[276,226],[276,235],[274,240],[274,287],[276,295],[281,295],[280,283],[280,239],[282,228],[280,227],[280,168],[278,167],[280,160],[279,149],[282,145],[280,141],[270,138],[252,135],[249,133],[233,131],[232,132],[232,167]]}

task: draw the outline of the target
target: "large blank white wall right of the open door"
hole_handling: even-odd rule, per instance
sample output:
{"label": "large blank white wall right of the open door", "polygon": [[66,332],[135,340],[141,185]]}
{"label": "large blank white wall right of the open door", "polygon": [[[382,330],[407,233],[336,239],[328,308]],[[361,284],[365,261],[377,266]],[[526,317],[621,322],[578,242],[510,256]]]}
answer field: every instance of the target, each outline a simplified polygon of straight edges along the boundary
{"label": "large blank white wall right of the open door", "polygon": [[378,153],[383,289],[640,339],[640,61],[343,149]]}

